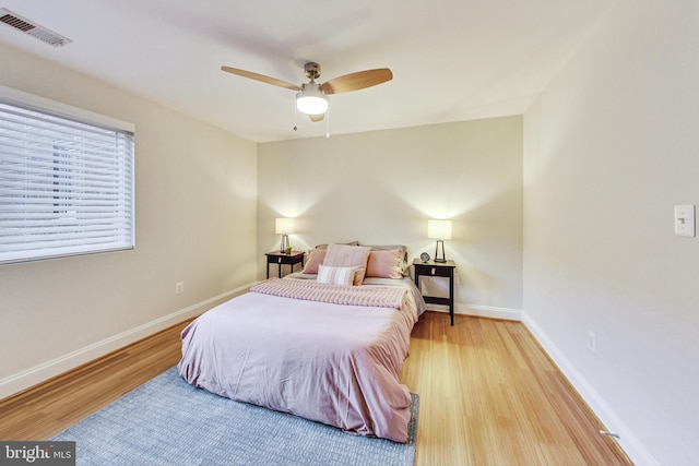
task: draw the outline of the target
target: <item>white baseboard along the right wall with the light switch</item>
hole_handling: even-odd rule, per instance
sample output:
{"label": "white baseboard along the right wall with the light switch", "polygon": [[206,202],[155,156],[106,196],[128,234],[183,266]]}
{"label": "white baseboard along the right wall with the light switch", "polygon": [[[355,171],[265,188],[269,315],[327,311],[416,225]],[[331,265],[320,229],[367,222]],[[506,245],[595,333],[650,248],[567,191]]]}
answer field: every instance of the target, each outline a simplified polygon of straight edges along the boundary
{"label": "white baseboard along the right wall with the light switch", "polygon": [[566,375],[568,381],[578,391],[582,399],[585,401],[590,409],[605,426],[607,432],[619,435],[617,442],[624,449],[631,462],[637,465],[659,465],[660,463],[645,450],[643,444],[633,435],[628,426],[619,419],[614,410],[600,396],[594,387],[582,377],[566,356],[554,345],[548,336],[541,330],[525,312],[522,314],[522,322],[538,340],[540,345],[548,354],[550,359],[558,366],[558,369]]}

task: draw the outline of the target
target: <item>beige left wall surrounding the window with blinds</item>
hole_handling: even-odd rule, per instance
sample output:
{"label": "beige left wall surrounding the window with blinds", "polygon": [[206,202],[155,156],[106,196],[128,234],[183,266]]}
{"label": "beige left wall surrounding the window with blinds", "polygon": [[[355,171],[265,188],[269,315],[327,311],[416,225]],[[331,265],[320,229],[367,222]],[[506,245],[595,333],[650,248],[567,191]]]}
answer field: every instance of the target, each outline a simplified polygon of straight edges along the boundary
{"label": "beige left wall surrounding the window with blinds", "polygon": [[0,266],[0,397],[254,280],[254,143],[11,49],[0,62],[1,85],[135,124],[137,215],[132,251]]}

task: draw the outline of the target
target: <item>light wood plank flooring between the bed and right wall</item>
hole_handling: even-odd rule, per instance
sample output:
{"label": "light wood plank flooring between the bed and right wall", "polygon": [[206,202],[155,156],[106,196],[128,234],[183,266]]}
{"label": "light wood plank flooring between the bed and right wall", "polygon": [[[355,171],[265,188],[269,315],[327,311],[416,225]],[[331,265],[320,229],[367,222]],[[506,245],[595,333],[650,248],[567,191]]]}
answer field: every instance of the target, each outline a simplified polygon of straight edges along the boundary
{"label": "light wood plank flooring between the bed and right wall", "polygon": [[520,322],[425,313],[401,380],[419,394],[416,465],[628,465]]}

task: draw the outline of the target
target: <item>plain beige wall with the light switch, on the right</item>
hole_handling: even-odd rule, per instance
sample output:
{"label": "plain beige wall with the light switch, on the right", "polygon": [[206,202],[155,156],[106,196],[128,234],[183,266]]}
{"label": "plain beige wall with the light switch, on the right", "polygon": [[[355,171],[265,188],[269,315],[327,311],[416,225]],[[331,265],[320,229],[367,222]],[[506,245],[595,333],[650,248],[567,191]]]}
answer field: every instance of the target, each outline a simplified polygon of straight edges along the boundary
{"label": "plain beige wall with the light switch, on the right", "polygon": [[699,458],[697,19],[618,2],[524,118],[525,322],[637,464]]}

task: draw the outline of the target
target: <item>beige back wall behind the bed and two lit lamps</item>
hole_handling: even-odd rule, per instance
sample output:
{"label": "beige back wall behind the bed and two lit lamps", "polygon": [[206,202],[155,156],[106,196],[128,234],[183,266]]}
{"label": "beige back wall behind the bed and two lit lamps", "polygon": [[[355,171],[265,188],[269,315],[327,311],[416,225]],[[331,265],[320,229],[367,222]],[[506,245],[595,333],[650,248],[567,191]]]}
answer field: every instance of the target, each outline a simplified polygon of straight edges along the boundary
{"label": "beige back wall behind the bed and two lit lamps", "polygon": [[411,262],[435,254],[427,219],[451,218],[446,248],[458,266],[458,310],[519,315],[521,117],[265,143],[258,167],[260,258],[279,248],[280,216],[297,218],[296,249],[401,243]]}

